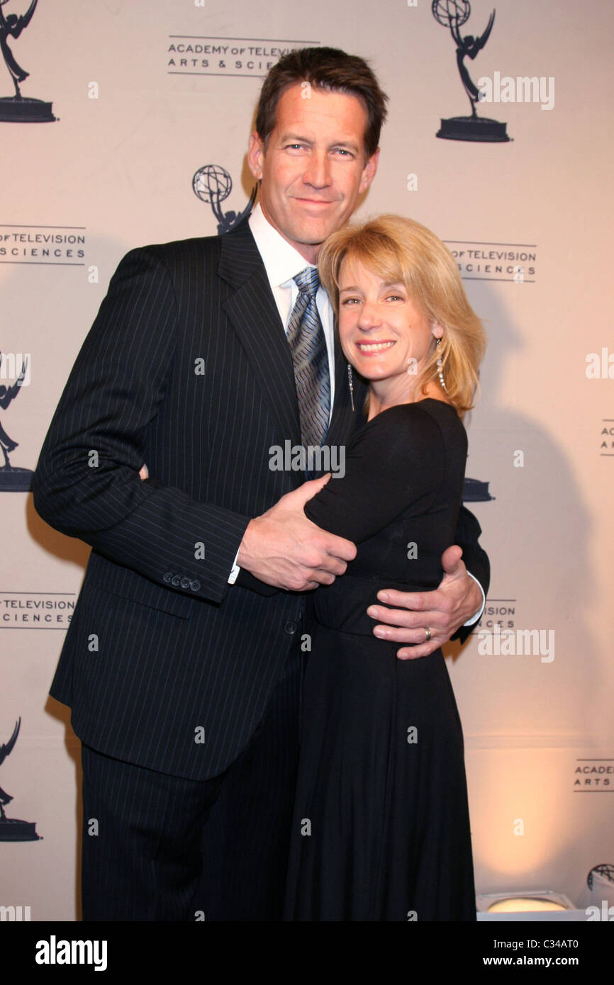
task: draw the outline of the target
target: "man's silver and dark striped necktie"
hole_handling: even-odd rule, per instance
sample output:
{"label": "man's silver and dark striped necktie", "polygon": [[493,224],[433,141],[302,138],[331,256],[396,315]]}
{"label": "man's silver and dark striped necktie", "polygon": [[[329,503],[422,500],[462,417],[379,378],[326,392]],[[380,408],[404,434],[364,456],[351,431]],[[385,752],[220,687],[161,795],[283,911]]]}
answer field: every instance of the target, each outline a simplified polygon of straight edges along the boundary
{"label": "man's silver and dark striped necktie", "polygon": [[306,267],[294,278],[299,296],[286,333],[295,368],[301,440],[304,447],[321,444],[328,429],[330,373],[324,329],[317,312],[319,287],[316,267]]}

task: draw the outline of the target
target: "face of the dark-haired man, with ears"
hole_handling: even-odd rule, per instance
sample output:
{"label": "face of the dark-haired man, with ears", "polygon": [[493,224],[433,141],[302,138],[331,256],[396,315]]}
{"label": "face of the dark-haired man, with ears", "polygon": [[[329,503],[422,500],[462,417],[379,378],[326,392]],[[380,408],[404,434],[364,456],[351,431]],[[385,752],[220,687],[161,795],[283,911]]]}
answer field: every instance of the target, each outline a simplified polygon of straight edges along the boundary
{"label": "face of the dark-haired man, with ears", "polygon": [[365,157],[367,110],[356,96],[291,86],[277,104],[266,152],[257,134],[247,161],[260,207],[284,239],[314,263],[319,246],[350,218],[375,176]]}

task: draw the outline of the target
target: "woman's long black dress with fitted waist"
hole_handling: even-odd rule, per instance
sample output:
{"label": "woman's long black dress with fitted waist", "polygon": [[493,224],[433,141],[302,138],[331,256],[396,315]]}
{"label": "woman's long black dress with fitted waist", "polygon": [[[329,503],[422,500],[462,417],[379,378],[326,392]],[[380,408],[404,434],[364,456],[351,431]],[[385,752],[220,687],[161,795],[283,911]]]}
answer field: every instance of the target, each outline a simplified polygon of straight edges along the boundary
{"label": "woman's long black dress with fitted waist", "polygon": [[307,502],[358,554],[312,596],[286,920],[475,920],[463,739],[441,650],[402,661],[367,607],[437,588],[467,438],[426,399],[354,435],[345,476]]}

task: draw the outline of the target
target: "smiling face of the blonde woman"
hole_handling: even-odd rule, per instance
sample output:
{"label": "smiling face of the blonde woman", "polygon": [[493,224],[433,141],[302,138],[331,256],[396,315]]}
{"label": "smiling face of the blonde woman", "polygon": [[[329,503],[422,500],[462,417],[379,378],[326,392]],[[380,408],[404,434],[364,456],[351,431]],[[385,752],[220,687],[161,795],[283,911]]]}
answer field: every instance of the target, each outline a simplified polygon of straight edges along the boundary
{"label": "smiling face of the blonde woman", "polygon": [[339,272],[339,338],[346,359],[366,379],[413,390],[412,377],[434,345],[431,321],[403,284],[386,284],[362,263],[344,260]]}

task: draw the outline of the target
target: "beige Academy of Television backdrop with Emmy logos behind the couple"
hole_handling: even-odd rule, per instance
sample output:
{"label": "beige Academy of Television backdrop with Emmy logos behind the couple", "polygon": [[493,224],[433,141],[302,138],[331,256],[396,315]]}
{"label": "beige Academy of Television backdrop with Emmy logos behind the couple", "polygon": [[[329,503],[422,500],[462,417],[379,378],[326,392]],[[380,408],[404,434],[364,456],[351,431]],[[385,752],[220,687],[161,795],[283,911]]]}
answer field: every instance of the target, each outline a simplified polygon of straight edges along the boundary
{"label": "beige Academy of Television backdrop with Emmy logos behind the couple", "polygon": [[263,76],[325,44],[390,98],[358,215],[435,230],[488,333],[465,498],[493,576],[446,651],[476,886],[585,905],[614,862],[613,28],[605,0],[0,5],[0,904],[80,912],[80,746],[47,690],[89,549],[34,511],[43,437],[120,257],[232,226]]}

